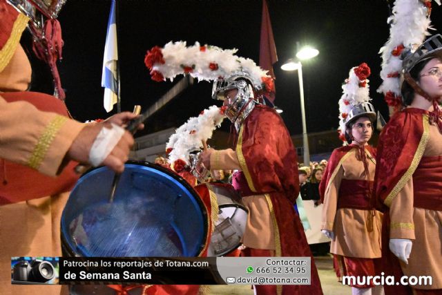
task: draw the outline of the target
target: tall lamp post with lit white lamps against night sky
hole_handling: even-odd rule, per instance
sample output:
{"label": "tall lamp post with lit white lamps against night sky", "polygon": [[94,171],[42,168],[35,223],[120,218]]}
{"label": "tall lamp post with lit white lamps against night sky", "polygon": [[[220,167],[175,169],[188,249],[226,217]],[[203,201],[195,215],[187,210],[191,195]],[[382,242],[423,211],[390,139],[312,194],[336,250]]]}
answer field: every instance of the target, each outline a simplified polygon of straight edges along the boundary
{"label": "tall lamp post with lit white lamps against night sky", "polygon": [[304,84],[302,81],[302,64],[301,60],[311,59],[316,57],[319,51],[311,48],[305,47],[296,53],[298,61],[289,59],[285,64],[281,66],[282,70],[298,70],[298,80],[299,80],[299,95],[301,100],[301,117],[302,117],[302,143],[304,147],[304,164],[309,166],[310,164],[310,153],[309,153],[309,138],[307,137],[307,124],[305,123],[305,105],[304,105]]}

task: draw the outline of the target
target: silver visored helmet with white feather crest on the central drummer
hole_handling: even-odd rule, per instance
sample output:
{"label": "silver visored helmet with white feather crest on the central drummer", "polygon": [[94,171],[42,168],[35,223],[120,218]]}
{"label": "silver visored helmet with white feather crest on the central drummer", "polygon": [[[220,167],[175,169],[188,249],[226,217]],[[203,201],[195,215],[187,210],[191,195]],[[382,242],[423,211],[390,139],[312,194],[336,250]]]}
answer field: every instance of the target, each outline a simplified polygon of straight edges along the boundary
{"label": "silver visored helmet with white feather crest on the central drummer", "polygon": [[148,50],[144,63],[151,71],[152,79],[160,82],[173,79],[176,75],[189,74],[198,80],[213,81],[212,98],[224,100],[224,92],[233,88],[238,89],[238,95],[233,99],[226,111],[232,122],[238,122],[238,117],[244,119],[260,95],[271,95],[275,88],[273,78],[267,75],[251,59],[235,55],[236,49],[216,46],[186,46],[186,42],[169,42],[160,48]]}

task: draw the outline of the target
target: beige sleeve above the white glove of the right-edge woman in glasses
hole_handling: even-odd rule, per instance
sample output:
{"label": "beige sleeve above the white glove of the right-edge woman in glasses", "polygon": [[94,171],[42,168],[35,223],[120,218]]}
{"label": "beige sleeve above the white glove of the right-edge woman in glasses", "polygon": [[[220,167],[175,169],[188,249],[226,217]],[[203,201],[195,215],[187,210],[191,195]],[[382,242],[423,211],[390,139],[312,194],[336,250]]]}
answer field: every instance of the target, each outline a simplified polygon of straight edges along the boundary
{"label": "beige sleeve above the white glove of the right-edge woman in glasses", "polygon": [[410,178],[390,206],[390,238],[414,240],[413,178]]}

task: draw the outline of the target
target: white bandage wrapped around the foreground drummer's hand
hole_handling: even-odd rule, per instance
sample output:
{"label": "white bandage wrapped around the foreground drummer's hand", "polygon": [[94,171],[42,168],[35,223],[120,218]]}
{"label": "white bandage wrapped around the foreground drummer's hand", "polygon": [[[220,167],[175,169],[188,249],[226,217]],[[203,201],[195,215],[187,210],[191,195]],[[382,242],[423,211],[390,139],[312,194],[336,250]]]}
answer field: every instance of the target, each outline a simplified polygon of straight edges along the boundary
{"label": "white bandage wrapped around the foreground drummer's hand", "polygon": [[111,123],[112,128],[103,127],[95,138],[89,152],[89,162],[93,166],[102,164],[124,134],[124,129]]}

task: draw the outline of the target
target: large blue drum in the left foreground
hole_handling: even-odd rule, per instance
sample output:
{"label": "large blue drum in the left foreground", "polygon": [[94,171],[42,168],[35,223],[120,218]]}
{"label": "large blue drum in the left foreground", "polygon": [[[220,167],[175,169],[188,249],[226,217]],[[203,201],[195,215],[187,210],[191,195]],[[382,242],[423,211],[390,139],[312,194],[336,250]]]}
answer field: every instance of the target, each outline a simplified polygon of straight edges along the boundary
{"label": "large blue drum in the left foreground", "polygon": [[208,219],[202,200],[179,175],[148,162],[127,162],[113,202],[115,173],[81,176],[61,216],[67,256],[198,256]]}

